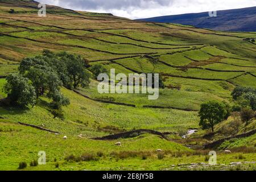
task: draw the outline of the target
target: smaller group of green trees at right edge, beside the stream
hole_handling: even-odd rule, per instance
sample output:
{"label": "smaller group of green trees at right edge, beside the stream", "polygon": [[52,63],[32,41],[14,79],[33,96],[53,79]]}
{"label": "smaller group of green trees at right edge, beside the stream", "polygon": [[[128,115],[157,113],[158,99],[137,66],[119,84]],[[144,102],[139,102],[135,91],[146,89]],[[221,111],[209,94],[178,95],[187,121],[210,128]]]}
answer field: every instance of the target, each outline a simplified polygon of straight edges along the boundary
{"label": "smaller group of green trees at right edge, beside the stream", "polygon": [[202,129],[214,131],[214,125],[228,119],[232,112],[240,112],[240,117],[246,125],[255,117],[256,89],[237,86],[231,95],[234,101],[233,106],[218,101],[209,101],[201,105],[199,125]]}

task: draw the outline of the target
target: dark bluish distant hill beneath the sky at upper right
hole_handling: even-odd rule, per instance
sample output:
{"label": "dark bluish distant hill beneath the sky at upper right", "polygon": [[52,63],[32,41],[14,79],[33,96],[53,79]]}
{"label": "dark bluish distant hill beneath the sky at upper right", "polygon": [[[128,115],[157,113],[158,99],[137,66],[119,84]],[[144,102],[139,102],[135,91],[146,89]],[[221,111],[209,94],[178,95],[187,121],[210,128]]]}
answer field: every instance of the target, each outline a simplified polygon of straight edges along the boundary
{"label": "dark bluish distant hill beneath the sky at upper right", "polygon": [[159,16],[139,19],[146,22],[189,24],[199,28],[221,31],[256,31],[256,7],[236,10],[217,11],[217,17],[210,17],[208,12]]}

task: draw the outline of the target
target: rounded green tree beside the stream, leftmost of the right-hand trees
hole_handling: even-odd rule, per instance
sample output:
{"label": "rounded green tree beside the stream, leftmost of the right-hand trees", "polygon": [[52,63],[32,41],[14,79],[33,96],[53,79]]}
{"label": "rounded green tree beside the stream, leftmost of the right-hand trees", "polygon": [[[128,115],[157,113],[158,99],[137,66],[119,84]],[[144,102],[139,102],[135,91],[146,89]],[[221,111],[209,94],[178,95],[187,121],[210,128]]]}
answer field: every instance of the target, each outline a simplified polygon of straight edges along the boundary
{"label": "rounded green tree beside the stream, leftmost of the right-hand trees", "polygon": [[201,105],[199,111],[200,123],[199,125],[205,129],[212,129],[214,131],[214,125],[224,120],[226,116],[225,105],[217,101],[209,101]]}

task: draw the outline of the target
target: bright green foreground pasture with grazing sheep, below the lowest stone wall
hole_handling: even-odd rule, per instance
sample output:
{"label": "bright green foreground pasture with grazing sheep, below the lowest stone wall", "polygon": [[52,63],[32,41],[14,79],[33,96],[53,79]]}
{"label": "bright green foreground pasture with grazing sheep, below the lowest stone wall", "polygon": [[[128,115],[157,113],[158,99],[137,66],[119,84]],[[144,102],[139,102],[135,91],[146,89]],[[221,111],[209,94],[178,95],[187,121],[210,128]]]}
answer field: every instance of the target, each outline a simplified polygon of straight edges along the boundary
{"label": "bright green foreground pasture with grazing sheep, below the lowest stone wall", "polygon": [[[68,135],[68,139],[63,140],[63,135],[49,134],[45,131],[16,125],[13,122],[1,121],[0,126],[1,130],[4,131],[1,132],[0,142],[2,149],[0,150],[1,170],[15,170],[18,168],[20,161],[29,163],[37,159],[39,151],[46,151],[47,163],[49,164],[44,166],[44,169],[53,169],[52,164],[55,158],[57,161],[63,161],[68,155],[81,155],[85,152],[94,154],[94,151],[104,151],[105,155],[110,155],[114,151],[154,151],[157,148],[171,151],[189,151],[188,148],[180,144],[168,142],[153,135],[121,139],[122,146],[119,147],[114,145],[116,142],[114,140],[106,142],[87,138],[79,139],[75,135]],[[147,142],[151,144],[148,145]],[[15,148],[19,148],[19,150],[15,150]],[[8,155],[6,156],[6,154]],[[62,166],[62,163],[60,166]]]}

